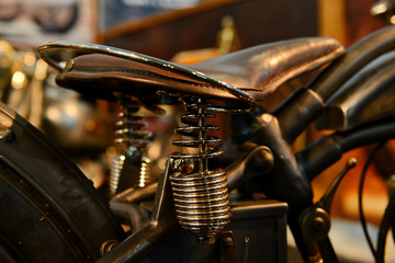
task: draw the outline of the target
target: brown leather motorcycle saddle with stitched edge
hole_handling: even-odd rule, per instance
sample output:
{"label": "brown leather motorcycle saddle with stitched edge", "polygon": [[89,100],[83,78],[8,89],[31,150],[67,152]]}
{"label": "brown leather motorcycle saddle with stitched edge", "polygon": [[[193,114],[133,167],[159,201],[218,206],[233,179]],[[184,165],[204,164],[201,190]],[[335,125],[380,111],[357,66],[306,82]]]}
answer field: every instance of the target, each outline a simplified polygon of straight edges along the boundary
{"label": "brown leather motorcycle saddle with stitched edge", "polygon": [[[38,55],[48,60],[45,50],[59,47],[67,49],[68,44],[46,44],[38,48]],[[56,82],[60,87],[106,100],[119,93],[129,94],[148,104],[157,100],[158,91],[181,96],[192,94],[244,110],[285,81],[345,52],[334,38],[305,37],[263,44],[182,66],[116,48],[92,49],[80,50],[82,55],[75,56],[57,75]],[[119,56],[117,50],[126,55]]]}

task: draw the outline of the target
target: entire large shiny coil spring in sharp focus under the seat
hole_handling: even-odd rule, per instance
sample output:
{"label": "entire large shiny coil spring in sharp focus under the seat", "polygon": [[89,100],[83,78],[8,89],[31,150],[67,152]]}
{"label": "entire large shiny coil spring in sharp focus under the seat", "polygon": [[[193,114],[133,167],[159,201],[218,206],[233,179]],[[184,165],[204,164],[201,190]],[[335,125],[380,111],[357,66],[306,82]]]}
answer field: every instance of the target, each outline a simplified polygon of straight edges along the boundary
{"label": "entire large shiny coil spring in sharp focus under the seat", "polygon": [[[230,218],[229,197],[226,175],[224,171],[208,171],[207,160],[219,156],[222,151],[214,144],[221,141],[210,136],[207,132],[218,127],[207,125],[207,118],[215,114],[207,113],[206,104],[202,100],[191,100],[185,108],[190,114],[181,116],[181,122],[188,126],[179,127],[176,133],[193,137],[172,141],[180,147],[198,148],[195,153],[174,153],[174,163],[181,162],[178,172],[170,175],[173,191],[176,214],[179,224],[195,235],[201,243],[213,243],[215,235],[228,224]],[[198,162],[198,171],[187,163]],[[192,172],[192,173],[190,173]]]}

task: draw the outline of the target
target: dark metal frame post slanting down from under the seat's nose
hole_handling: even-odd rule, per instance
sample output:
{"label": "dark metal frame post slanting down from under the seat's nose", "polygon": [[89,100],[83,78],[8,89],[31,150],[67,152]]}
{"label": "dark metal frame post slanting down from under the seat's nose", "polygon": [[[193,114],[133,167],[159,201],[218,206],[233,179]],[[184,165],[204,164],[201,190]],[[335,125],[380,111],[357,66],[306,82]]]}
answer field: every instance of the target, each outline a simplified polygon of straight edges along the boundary
{"label": "dark metal frame post slanting down from under the seat's nose", "polygon": [[266,193],[269,198],[286,202],[290,210],[308,206],[313,197],[311,183],[301,173],[293,149],[283,139],[275,116],[262,113],[251,122],[250,125],[257,127],[257,130],[248,141],[268,147],[274,161],[269,172],[249,180],[246,185],[253,192]]}

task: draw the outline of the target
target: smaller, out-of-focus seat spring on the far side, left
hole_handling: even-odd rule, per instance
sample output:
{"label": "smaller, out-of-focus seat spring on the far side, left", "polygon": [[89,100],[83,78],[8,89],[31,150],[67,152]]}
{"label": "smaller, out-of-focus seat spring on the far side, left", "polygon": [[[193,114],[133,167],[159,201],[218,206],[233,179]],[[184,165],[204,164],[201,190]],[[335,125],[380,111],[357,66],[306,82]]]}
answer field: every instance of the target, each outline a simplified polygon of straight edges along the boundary
{"label": "smaller, out-of-focus seat spring on the far side, left", "polygon": [[[146,155],[153,142],[153,133],[145,130],[148,123],[142,122],[143,116],[136,115],[139,104],[132,96],[120,96],[119,121],[115,124],[116,156],[113,158],[110,192],[116,194],[122,178],[133,187],[145,187],[155,181],[150,173],[150,160]],[[127,173],[127,174],[126,174]]]}

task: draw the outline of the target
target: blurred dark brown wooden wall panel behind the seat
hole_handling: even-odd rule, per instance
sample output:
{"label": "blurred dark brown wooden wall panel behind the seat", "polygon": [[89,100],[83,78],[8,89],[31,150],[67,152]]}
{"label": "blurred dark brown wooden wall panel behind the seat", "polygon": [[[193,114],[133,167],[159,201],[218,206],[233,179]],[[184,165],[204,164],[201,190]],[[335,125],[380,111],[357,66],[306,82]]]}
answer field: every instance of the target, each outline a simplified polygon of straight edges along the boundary
{"label": "blurred dark brown wooden wall panel behind the seat", "polygon": [[99,41],[169,59],[181,50],[213,47],[225,15],[234,18],[242,47],[317,34],[315,0],[214,0],[110,28]]}

